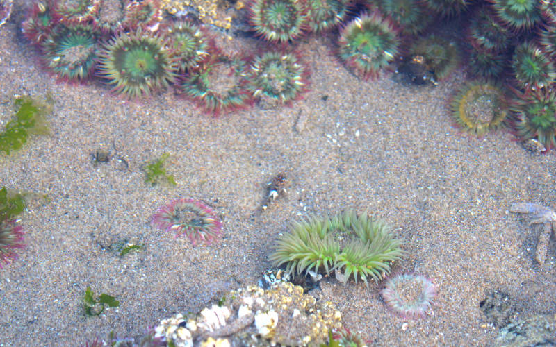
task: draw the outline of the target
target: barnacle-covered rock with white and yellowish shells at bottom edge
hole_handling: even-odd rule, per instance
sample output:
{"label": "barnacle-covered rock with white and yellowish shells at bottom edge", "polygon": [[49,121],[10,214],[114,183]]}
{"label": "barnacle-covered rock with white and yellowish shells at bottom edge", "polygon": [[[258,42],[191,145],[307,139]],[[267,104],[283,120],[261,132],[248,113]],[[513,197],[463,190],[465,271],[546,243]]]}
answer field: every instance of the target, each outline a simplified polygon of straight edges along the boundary
{"label": "barnacle-covered rock with white and yellowish shells at bottom edge", "polygon": [[341,314],[330,302],[317,302],[303,288],[281,282],[264,290],[229,292],[221,305],[193,317],[177,314],[154,328],[168,346],[319,346],[328,329],[342,328]]}

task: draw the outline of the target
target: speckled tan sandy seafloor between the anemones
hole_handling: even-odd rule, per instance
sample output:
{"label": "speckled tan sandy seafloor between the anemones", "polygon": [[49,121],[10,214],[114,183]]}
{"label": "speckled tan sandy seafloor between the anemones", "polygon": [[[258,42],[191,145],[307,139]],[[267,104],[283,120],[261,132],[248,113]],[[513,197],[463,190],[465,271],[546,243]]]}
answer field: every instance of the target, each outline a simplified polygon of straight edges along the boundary
{"label": "speckled tan sandy seafloor between the anemones", "polygon": [[[514,298],[519,317],[556,312],[555,237],[537,265],[541,226],[508,212],[519,201],[556,207],[555,153],[525,151],[507,131],[461,133],[448,99],[464,70],[438,87],[390,74],[360,81],[327,40],[311,38],[300,46],[311,66],[304,100],[213,119],[172,90],[125,101],[99,83],[56,83],[19,33],[18,10],[0,28],[0,124],[15,95],[49,92],[55,105],[51,135],[0,155],[0,186],[49,197],[26,208],[26,248],[0,271],[0,346],[80,346],[111,330],[138,339],[147,325],[256,284],[292,221],[350,208],[383,217],[404,239],[409,257],[393,273],[423,274],[439,291],[431,316],[408,321],[386,309],[381,284],[322,280],[320,300],[374,346],[489,346],[498,328],[479,303],[495,289]],[[94,167],[97,149],[113,160]],[[163,153],[177,187],[144,182],[142,165]],[[279,172],[288,195],[258,213]],[[179,197],[211,205],[224,239],[193,247],[149,225],[158,206]],[[121,240],[146,248],[123,258],[102,248]],[[88,286],[120,307],[85,317]]]}

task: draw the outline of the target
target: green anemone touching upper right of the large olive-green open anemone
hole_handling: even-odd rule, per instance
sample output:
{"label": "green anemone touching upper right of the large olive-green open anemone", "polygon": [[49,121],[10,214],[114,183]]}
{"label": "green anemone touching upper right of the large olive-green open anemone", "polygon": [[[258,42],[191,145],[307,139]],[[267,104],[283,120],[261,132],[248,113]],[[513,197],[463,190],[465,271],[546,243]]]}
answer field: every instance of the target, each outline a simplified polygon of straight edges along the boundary
{"label": "green anemone touching upper right of the large olive-green open anemone", "polygon": [[179,20],[167,28],[172,57],[177,60],[180,72],[186,72],[207,60],[213,51],[213,45],[200,26],[188,21]]}

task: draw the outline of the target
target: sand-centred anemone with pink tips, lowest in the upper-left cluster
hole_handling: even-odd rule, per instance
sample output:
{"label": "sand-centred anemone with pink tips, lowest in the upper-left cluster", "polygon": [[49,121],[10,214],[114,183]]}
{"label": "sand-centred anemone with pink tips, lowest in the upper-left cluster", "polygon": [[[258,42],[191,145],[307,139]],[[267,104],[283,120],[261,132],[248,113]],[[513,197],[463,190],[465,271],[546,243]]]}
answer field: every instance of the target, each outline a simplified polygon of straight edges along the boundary
{"label": "sand-centred anemone with pink tips, lowest in the upper-left cluster", "polygon": [[245,108],[252,94],[245,87],[245,63],[220,56],[192,71],[180,83],[181,92],[211,115]]}

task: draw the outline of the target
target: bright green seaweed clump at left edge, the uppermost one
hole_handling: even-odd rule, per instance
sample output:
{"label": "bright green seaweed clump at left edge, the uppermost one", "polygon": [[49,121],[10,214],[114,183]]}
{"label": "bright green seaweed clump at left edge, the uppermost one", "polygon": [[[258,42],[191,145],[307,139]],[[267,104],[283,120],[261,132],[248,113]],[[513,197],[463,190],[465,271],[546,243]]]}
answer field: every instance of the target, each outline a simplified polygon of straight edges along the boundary
{"label": "bright green seaweed clump at left edge, the uppermost one", "polygon": [[29,135],[46,135],[49,133],[44,115],[51,112],[51,106],[42,105],[30,96],[15,99],[15,118],[8,121],[6,129],[0,133],[0,151],[10,154],[22,148]]}

